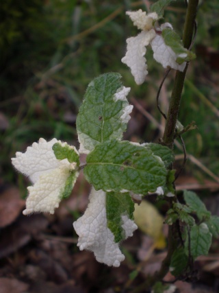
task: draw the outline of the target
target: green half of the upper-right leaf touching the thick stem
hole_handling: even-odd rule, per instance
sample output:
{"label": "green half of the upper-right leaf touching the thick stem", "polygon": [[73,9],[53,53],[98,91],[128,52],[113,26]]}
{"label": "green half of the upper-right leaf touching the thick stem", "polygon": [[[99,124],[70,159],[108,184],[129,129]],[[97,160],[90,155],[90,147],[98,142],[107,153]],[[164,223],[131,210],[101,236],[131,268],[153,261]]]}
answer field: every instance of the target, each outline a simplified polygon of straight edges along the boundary
{"label": "green half of the upper-right leaf touching the thick stem", "polygon": [[180,36],[174,30],[170,28],[162,30],[162,37],[164,38],[166,45],[168,45],[172,51],[177,54],[177,63],[182,64],[185,61],[188,62],[196,58],[196,55],[192,53],[192,51],[189,51],[183,47],[183,42]]}

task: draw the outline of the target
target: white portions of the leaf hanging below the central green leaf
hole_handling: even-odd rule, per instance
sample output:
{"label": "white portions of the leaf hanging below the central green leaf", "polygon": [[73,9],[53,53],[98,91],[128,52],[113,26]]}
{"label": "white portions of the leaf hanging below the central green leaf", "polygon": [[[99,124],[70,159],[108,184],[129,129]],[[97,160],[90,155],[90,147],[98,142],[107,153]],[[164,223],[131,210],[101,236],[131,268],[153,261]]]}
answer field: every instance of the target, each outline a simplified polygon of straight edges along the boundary
{"label": "white portions of the leaf hanging below the central green leaf", "polygon": [[[105,198],[103,190],[96,191],[92,187],[88,208],[73,226],[79,235],[77,246],[80,250],[91,250],[96,261],[118,267],[125,256],[121,253],[118,243],[114,242],[114,234],[107,227]],[[137,228],[136,224],[126,215],[122,216],[122,220],[125,237],[132,236]]]}

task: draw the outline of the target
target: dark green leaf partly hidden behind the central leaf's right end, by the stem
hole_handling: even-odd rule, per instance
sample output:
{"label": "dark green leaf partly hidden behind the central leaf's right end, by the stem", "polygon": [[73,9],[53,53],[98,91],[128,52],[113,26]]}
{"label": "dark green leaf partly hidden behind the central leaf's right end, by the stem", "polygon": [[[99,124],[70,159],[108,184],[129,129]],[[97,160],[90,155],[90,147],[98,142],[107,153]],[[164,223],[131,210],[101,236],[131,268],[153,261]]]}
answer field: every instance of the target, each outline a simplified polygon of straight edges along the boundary
{"label": "dark green leaf partly hidden behind the central leaf's right end, by the stem", "polygon": [[168,168],[175,159],[172,150],[165,145],[160,145],[159,143],[143,143],[142,145],[151,150],[155,156],[159,156],[166,168]]}

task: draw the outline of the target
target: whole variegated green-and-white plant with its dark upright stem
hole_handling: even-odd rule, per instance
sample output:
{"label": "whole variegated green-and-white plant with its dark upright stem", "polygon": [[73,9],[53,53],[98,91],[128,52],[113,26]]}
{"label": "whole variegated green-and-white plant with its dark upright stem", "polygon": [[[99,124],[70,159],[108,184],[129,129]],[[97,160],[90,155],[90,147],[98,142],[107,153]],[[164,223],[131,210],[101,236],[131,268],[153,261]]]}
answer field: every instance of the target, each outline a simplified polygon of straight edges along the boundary
{"label": "whole variegated green-and-white plant with its dark upright stem", "polygon": [[[195,259],[208,253],[212,235],[217,237],[219,233],[219,218],[211,216],[196,194],[184,191],[184,202],[179,202],[175,191],[172,148],[174,140],[179,137],[183,141],[181,135],[190,130],[190,127],[183,128],[177,117],[188,62],[195,58],[191,44],[198,0],[188,3],[182,41],[170,23],[161,24],[164,8],[169,3],[169,0],[157,1],[149,14],[142,10],[127,12],[141,32],[127,39],[127,53],[122,59],[137,84],[142,84],[148,74],[144,58],[148,45],[155,60],[168,72],[177,71],[167,115],[158,105],[166,119],[160,143],[123,141],[133,108],[127,101],[130,88],[123,86],[119,73],[105,73],[90,82],[79,108],[78,151],[57,139],[48,142],[40,139],[24,154],[17,152],[12,159],[14,167],[34,183],[28,187],[25,215],[54,213],[60,201],[70,195],[83,169],[92,190],[86,212],[73,223],[79,235],[77,245],[80,250],[92,250],[96,260],[108,266],[120,266],[125,256],[119,243],[137,228],[133,222],[132,198],[141,199],[150,193],[164,198],[170,205],[166,213],[168,255],[150,283],[143,284],[149,286],[162,280],[168,270],[175,277],[189,280]],[[80,163],[79,153],[87,154],[85,164]],[[157,284],[155,290],[159,292],[162,285]]]}

